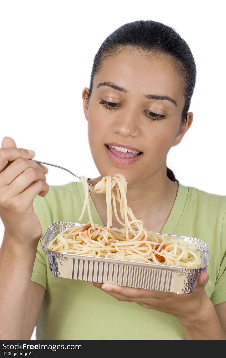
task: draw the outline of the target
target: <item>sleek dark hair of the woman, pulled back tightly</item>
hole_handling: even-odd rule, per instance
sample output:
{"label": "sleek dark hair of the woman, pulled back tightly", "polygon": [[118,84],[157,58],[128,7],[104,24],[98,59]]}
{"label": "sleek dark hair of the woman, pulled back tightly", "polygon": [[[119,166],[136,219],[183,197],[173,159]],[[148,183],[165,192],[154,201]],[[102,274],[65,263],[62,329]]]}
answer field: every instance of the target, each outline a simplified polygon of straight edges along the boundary
{"label": "sleek dark hair of the woman, pulled back tightly", "polygon": [[[90,91],[86,97],[89,101],[92,93],[94,76],[100,71],[104,60],[127,48],[140,50],[145,55],[167,55],[176,66],[184,81],[183,93],[185,104],[181,114],[182,125],[186,125],[191,97],[196,81],[196,65],[189,45],[171,27],[153,20],[139,20],[124,24],[110,34],[101,44],[94,57],[90,77]],[[172,170],[167,168],[167,176],[177,182]]]}

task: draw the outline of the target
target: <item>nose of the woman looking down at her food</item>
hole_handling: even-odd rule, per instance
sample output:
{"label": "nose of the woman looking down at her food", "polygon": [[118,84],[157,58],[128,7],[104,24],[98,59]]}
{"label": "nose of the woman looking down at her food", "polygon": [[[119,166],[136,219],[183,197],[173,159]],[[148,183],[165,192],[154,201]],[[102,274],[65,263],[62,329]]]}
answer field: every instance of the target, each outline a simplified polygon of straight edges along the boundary
{"label": "nose of the woman looking down at her food", "polygon": [[133,112],[120,113],[112,123],[112,129],[122,137],[137,137],[140,134],[139,119]]}

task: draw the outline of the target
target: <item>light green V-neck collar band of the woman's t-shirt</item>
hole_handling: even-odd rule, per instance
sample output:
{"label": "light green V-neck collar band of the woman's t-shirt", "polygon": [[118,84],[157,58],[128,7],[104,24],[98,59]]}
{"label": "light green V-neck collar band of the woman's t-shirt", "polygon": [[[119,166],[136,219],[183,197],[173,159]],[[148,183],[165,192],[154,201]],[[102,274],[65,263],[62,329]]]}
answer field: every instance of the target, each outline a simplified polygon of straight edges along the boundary
{"label": "light green V-neck collar band of the woman's t-shirt", "polygon": [[[81,200],[81,208],[83,207],[84,200],[85,200],[85,193],[82,187],[82,182],[74,182],[75,185],[77,185],[77,189],[80,195]],[[182,185],[178,183],[178,189],[177,189],[177,195],[174,202],[174,205],[171,209],[171,212],[169,214],[169,217],[164,225],[164,227],[161,230],[161,234],[171,234],[174,235],[177,227],[179,226],[180,220],[182,218],[182,213],[185,211],[187,207],[187,203],[190,196],[190,187],[186,187],[185,185]],[[94,205],[94,202],[92,201],[90,191],[88,191],[88,197],[90,202],[90,210],[92,213],[92,220],[94,223],[104,226],[104,223],[102,222],[100,215]],[[84,213],[84,217],[82,221],[89,221],[89,216],[87,212],[87,208]]]}

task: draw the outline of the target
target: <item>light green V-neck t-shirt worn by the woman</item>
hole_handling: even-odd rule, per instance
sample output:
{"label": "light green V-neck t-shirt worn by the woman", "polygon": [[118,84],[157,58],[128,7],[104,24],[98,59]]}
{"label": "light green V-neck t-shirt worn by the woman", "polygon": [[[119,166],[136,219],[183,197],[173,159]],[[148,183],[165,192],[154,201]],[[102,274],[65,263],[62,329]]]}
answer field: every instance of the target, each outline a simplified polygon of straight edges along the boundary
{"label": "light green V-neck t-shirt worn by the woman", "polygon": [[[50,186],[34,200],[42,236],[50,224],[79,222],[84,203],[82,183]],[[89,193],[92,219],[103,225]],[[207,295],[214,305],[226,301],[226,196],[179,183],[177,196],[161,233],[196,237],[209,246]],[[89,221],[87,209],[81,223]],[[85,281],[53,276],[39,242],[31,281],[46,289],[36,325],[37,339],[185,339],[175,316],[121,302]]]}

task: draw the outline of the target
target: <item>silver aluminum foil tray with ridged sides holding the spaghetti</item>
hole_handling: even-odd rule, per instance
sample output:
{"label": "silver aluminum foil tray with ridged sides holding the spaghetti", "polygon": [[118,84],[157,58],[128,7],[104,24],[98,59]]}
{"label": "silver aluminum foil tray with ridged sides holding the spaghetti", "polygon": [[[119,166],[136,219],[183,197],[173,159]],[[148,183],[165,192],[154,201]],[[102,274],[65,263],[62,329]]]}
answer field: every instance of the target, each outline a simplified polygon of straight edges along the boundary
{"label": "silver aluminum foil tray with ridged sides holding the spaghetti", "polygon": [[48,227],[41,238],[41,245],[47,253],[49,269],[52,275],[67,279],[186,294],[194,290],[200,272],[205,271],[209,264],[208,246],[204,241],[193,237],[168,234],[166,236],[180,238],[197,246],[201,250],[202,268],[186,269],[156,265],[155,263],[75,255],[74,253],[56,252],[47,248],[49,242],[61,231],[81,225],[83,224],[55,222]]}

